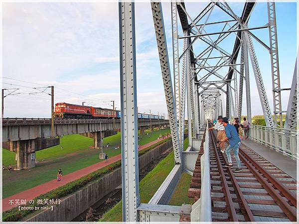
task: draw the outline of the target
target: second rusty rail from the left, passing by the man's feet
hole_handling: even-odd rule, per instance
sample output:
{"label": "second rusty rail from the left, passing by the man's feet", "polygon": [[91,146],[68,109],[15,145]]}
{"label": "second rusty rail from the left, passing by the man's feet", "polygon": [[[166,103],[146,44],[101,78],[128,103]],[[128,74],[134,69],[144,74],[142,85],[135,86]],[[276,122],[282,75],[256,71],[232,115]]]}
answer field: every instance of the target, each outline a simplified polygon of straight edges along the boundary
{"label": "second rusty rail from the left, passing by the man's feet", "polygon": [[[210,124],[210,126],[211,126],[211,124]],[[212,131],[212,136],[216,141],[216,136],[215,136],[213,131]],[[228,161],[227,161],[226,157],[223,154],[222,154],[222,158],[224,159],[225,163],[228,164]],[[248,203],[247,203],[247,201],[246,201],[246,199],[245,199],[245,197],[244,197],[244,195],[241,191],[241,188],[238,184],[238,181],[237,181],[235,175],[233,174],[233,171],[229,168],[227,168],[227,171],[228,171],[228,174],[231,178],[231,182],[232,182],[232,184],[233,184],[233,186],[236,190],[236,193],[237,193],[236,195],[237,195],[237,198],[239,199],[239,205],[240,205],[241,208],[243,208],[242,214],[246,219],[245,222],[255,222],[253,214],[252,214],[252,212],[249,208],[249,205],[248,205]]]}

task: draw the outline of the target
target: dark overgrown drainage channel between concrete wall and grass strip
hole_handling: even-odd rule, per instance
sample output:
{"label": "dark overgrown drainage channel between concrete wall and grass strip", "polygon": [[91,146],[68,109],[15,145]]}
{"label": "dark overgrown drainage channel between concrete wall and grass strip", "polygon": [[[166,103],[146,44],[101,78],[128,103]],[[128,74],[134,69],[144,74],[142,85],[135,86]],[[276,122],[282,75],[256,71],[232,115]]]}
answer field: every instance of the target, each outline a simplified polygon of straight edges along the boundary
{"label": "dark overgrown drainage channel between concrete wall and grass strip", "polygon": [[[142,180],[162,159],[164,159],[172,148],[167,149],[155,160],[151,161],[139,173],[139,179]],[[77,216],[72,222],[97,222],[106,212],[113,208],[119,201],[122,200],[122,186],[118,186],[109,194],[105,195],[102,199]]]}

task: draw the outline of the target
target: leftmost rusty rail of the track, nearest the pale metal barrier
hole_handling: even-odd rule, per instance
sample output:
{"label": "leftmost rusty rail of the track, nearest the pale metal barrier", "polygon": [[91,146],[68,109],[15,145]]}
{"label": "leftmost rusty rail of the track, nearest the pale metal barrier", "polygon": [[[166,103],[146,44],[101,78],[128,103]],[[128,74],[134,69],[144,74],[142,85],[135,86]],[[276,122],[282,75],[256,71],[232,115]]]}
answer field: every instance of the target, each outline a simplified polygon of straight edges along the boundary
{"label": "leftmost rusty rail of the track, nearest the pale metal barrier", "polygon": [[[210,133],[210,134],[212,135],[212,133]],[[232,200],[232,196],[231,196],[231,193],[229,191],[228,184],[227,184],[227,181],[226,181],[226,178],[225,178],[225,174],[224,174],[224,171],[223,171],[223,168],[222,168],[222,165],[221,165],[221,161],[220,161],[219,155],[217,153],[215,139],[213,137],[211,137],[210,139],[213,142],[212,147],[214,148],[215,157],[216,157],[216,160],[217,160],[218,170],[220,171],[219,175],[220,175],[221,181],[223,183],[223,188],[222,189],[223,189],[223,193],[225,195],[225,201],[226,201],[227,210],[228,210],[228,213],[229,213],[229,216],[230,216],[230,221],[231,222],[239,222],[237,214],[236,214],[236,209],[234,207],[234,203],[233,203],[233,200]]]}

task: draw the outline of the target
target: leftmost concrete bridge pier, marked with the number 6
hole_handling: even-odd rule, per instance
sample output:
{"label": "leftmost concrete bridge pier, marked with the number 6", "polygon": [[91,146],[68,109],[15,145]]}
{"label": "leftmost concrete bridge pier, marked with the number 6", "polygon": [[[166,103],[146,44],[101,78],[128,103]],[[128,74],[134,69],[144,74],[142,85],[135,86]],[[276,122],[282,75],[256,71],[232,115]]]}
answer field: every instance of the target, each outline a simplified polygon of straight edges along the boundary
{"label": "leftmost concrete bridge pier, marked with the number 6", "polygon": [[[35,167],[35,152],[59,145],[59,138],[37,138],[30,140],[3,142],[3,148],[16,152],[15,170],[30,169]],[[4,149],[5,150],[5,149]]]}

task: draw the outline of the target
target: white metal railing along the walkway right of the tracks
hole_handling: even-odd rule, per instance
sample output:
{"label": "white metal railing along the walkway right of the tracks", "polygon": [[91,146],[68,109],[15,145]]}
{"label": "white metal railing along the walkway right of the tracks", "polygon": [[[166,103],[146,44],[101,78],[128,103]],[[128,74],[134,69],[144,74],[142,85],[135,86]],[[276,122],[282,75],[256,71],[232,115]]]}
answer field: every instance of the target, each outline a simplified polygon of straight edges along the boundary
{"label": "white metal railing along the walkway right of the tracks", "polygon": [[250,125],[249,138],[276,151],[298,159],[298,130]]}

